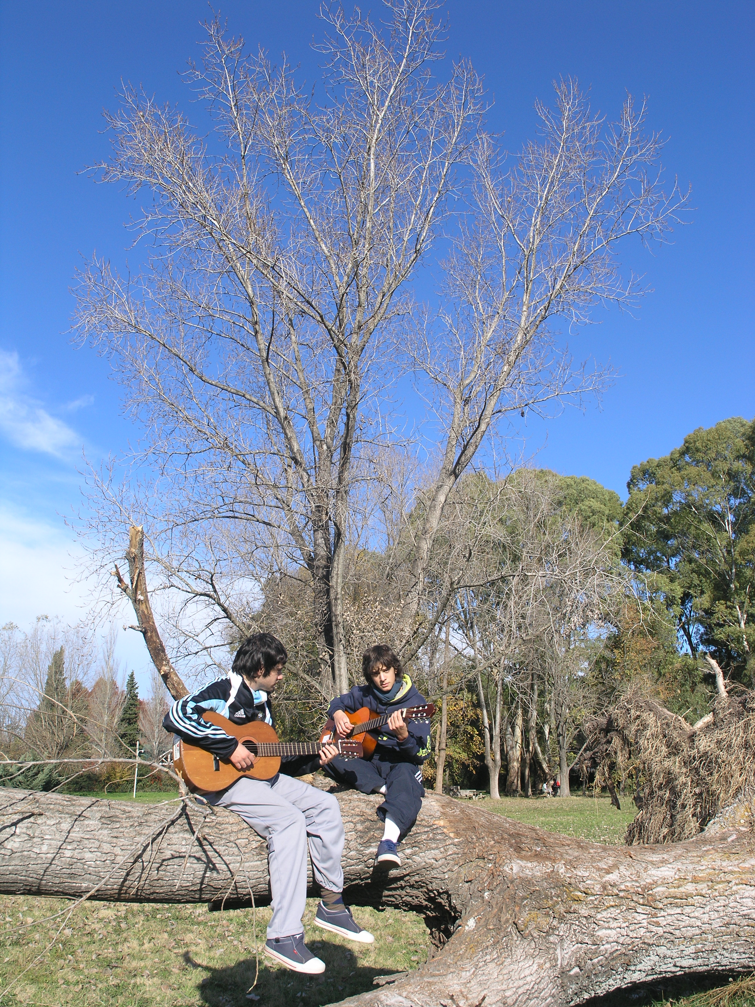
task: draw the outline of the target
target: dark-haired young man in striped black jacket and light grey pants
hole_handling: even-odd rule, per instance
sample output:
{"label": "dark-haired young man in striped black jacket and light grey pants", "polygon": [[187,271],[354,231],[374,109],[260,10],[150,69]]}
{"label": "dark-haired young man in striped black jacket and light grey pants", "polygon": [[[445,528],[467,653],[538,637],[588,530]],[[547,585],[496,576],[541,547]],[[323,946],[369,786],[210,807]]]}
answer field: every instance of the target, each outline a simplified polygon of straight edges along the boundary
{"label": "dark-haired young man in striped black jacket and light grey pants", "polygon": [[[163,727],[218,759],[228,759],[239,770],[249,769],[255,762],[249,749],[201,715],[214,710],[237,724],[264,720],[275,727],[270,693],[283,678],[287,660],[286,649],[272,633],[255,633],[237,651],[229,677],[174,703]],[[315,922],[361,944],[374,940],[354,922],[341,897],[343,823],[338,802],[331,794],[293,778],[326,765],[335,755],[337,749],[328,745],[314,758],[284,756],[281,771],[272,779],[242,776],[228,789],[205,795],[211,805],[236,812],[267,839],[273,915],[264,951],[287,968],[306,975],[325,970],[324,962],[304,944],[307,842],[312,872],[322,890]]]}

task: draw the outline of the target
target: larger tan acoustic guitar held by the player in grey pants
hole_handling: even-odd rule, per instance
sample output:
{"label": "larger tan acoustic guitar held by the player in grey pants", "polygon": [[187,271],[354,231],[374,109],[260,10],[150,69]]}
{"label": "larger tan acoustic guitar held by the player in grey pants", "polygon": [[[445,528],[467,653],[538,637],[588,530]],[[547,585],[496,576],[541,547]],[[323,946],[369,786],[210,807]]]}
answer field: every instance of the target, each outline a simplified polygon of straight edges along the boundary
{"label": "larger tan acoustic guitar held by the player in grey pants", "polygon": [[237,738],[257,756],[257,760],[249,769],[237,769],[229,759],[218,758],[199,745],[178,740],[173,745],[173,768],[191,790],[223,790],[242,776],[270,779],[280,769],[282,755],[318,755],[323,744],[334,744],[346,758],[359,758],[362,754],[361,744],[351,738],[328,742],[279,741],[264,720],[234,724],[212,710],[206,710],[202,720],[221,727],[232,738]]}

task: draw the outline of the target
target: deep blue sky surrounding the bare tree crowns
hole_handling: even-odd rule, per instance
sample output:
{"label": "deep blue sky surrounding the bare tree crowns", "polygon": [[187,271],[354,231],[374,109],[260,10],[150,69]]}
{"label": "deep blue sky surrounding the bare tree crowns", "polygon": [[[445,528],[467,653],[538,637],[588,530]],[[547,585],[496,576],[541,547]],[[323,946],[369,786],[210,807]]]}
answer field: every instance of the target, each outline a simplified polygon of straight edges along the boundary
{"label": "deep blue sky surrounding the bare tree crowns", "polygon": [[[220,10],[251,46],[273,58],[285,50],[313,81],[318,6],[232,0]],[[654,258],[630,253],[653,288],[636,317],[608,313],[571,340],[578,357],[593,353],[619,374],[602,408],[522,431],[539,464],[622,495],[632,464],[695,427],[755,414],[754,10],[738,0],[448,7],[447,52],[484,75],[490,125],[508,149],[532,135],[535,99],[571,75],[609,116],[626,91],[647,95],[649,127],[669,138],[669,176],[692,183],[694,223]],[[77,467],[83,449],[97,461],[138,432],[121,415],[108,362],[69,341],[68,288],[83,256],[97,250],[123,266],[139,253],[126,252],[132,204],[79,172],[107,154],[101,113],[122,79],[185,103],[178,71],[198,56],[208,15],[198,0],[0,3],[0,624],[76,617],[86,605],[62,521],[80,505]],[[139,642],[123,653],[141,677]]]}

